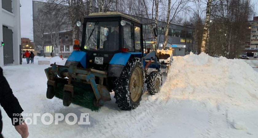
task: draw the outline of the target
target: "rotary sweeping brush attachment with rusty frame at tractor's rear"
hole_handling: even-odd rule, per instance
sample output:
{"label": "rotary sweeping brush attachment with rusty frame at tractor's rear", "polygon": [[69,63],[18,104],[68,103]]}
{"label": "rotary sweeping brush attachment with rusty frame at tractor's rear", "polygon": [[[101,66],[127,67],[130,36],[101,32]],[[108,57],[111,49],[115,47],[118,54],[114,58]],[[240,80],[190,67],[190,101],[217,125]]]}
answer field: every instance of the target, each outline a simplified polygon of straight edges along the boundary
{"label": "rotary sweeping brush attachment with rusty frame at tractor's rear", "polygon": [[[103,106],[104,101],[111,100],[109,90],[103,85],[107,72],[77,68],[73,65],[61,66],[56,63],[51,66],[45,69],[48,78],[47,98],[56,96],[63,99],[65,106],[72,102],[92,110]],[[99,80],[97,83],[96,78]]]}

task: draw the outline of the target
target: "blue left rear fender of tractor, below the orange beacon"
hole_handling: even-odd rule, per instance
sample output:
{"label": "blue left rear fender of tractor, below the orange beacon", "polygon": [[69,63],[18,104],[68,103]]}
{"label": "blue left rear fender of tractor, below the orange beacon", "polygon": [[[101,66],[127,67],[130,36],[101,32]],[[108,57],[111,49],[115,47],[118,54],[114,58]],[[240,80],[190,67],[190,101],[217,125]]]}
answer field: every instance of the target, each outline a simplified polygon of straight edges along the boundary
{"label": "blue left rear fender of tractor, below the orange beacon", "polygon": [[86,52],[74,50],[65,62],[65,66],[70,65],[78,67],[80,64],[82,67],[86,68]]}

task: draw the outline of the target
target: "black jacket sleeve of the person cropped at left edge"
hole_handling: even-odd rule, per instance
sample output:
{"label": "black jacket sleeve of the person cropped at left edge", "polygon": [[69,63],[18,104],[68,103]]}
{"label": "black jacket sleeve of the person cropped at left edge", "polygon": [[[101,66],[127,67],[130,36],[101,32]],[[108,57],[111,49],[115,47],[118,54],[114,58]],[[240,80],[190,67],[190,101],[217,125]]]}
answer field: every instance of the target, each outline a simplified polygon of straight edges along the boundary
{"label": "black jacket sleeve of the person cropped at left edge", "polygon": [[[23,109],[20,106],[18,99],[14,96],[12,89],[10,88],[6,78],[3,76],[3,70],[0,67],[0,104],[6,111],[8,117],[11,118],[13,122],[13,118],[15,117],[13,114],[22,113]],[[13,124],[13,123],[12,123]],[[13,124],[19,125],[19,124]]]}

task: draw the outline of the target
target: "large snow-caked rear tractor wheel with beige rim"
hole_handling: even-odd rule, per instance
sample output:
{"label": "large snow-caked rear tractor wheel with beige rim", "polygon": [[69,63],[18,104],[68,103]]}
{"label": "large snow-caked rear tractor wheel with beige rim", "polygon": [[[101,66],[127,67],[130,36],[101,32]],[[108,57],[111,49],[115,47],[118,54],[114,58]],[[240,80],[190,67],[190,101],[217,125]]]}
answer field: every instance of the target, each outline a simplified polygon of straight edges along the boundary
{"label": "large snow-caked rear tractor wheel with beige rim", "polygon": [[143,95],[143,64],[135,58],[129,59],[115,85],[118,107],[122,110],[135,109]]}

